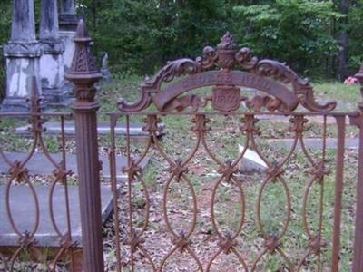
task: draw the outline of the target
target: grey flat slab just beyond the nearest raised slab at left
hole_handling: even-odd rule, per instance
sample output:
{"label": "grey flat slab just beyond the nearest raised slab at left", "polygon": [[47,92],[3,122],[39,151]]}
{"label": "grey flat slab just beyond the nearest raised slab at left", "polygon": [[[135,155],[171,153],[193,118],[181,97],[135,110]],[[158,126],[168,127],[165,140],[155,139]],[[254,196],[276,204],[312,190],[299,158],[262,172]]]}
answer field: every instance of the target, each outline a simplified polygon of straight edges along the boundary
{"label": "grey flat slab just beyond the nearest raised slab at left", "polygon": [[[26,158],[26,153],[5,153],[6,157],[11,160],[19,160],[22,161]],[[60,162],[62,160],[61,154],[51,154],[52,158]],[[100,160],[103,164],[103,169],[101,170],[101,176],[103,179],[110,179],[110,162],[107,156],[100,156]],[[149,162],[149,158],[146,157],[142,160],[141,166],[144,169]],[[77,159],[73,154],[66,155],[66,165],[67,170],[73,170],[74,174],[78,173],[77,170]],[[124,166],[127,165],[127,160],[125,157],[116,156],[116,169],[117,169],[117,180],[123,181],[127,179],[127,175],[124,174],[121,170]],[[53,174],[54,165],[45,157],[43,153],[34,153],[32,158],[26,163],[25,167],[29,170],[30,173],[36,175],[51,175]],[[6,174],[9,171],[9,166],[5,162],[5,160],[0,156],[0,173]]]}

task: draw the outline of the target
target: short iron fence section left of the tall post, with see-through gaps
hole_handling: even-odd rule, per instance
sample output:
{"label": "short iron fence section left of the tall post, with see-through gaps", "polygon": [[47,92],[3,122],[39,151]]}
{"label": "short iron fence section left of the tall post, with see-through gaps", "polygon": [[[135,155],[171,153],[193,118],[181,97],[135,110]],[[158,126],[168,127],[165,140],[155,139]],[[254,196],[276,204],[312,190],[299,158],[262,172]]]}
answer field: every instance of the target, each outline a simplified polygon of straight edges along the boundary
{"label": "short iron fence section left of the tall post, with see-through gaps", "polygon": [[[64,133],[64,121],[71,115],[42,112],[37,90],[34,80],[29,112],[0,112],[0,268],[75,271],[82,266],[82,255],[80,239],[74,240],[72,233],[72,205],[76,203],[69,199],[73,172],[66,164]],[[44,134],[43,123],[50,119],[60,121],[59,137]],[[27,120],[28,135],[18,135],[15,126],[25,125]],[[38,163],[34,165],[34,161]]]}

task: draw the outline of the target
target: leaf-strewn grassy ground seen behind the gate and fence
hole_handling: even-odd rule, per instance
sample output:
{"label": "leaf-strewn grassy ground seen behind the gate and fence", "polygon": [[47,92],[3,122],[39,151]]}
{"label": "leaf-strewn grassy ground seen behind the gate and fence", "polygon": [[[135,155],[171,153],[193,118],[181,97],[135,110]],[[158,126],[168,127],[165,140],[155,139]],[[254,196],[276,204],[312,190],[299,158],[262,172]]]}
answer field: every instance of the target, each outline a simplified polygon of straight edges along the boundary
{"label": "leaf-strewn grassy ground seen behind the gate and fence", "polygon": [[[127,101],[134,101],[137,97],[137,86],[142,82],[139,77],[129,76],[120,78],[114,83],[104,84],[102,92],[98,94],[101,102],[99,114],[100,121],[109,121],[107,112],[116,111],[116,101],[120,97]],[[315,83],[317,97],[320,99],[332,99],[338,101],[338,110],[354,111],[357,102],[360,101],[358,85],[346,86],[340,83]],[[201,90],[198,92],[205,92]],[[65,110],[62,110],[65,111]],[[162,137],[162,149],[171,157],[185,159],[193,149],[196,142],[195,132],[191,131],[192,123],[189,116],[171,116],[161,117],[165,126],[165,135]],[[207,145],[211,148],[212,153],[221,161],[235,159],[238,157],[238,144],[243,144],[245,136],[240,131],[240,116],[222,116],[210,115],[209,125],[212,130],[206,138]],[[131,121],[142,121],[140,116],[132,117]],[[122,122],[123,119],[120,118]],[[12,119],[2,120],[0,122],[0,144],[4,151],[27,151],[32,143],[32,139],[19,136],[15,133],[15,127],[25,124],[25,120],[15,121]],[[267,139],[290,139],[293,133],[289,131],[289,118],[281,117],[279,120],[269,120],[261,118],[257,123],[260,135],[257,144],[260,151],[269,161],[281,161],[288,153],[289,148],[282,145],[279,141],[266,141]],[[321,139],[323,134],[322,119],[310,119],[306,124],[309,130],[305,132],[304,138]],[[335,138],[337,131],[334,122],[328,120],[327,135],[328,138]],[[354,127],[347,126],[346,141],[357,137],[358,130]],[[99,136],[100,153],[107,155],[109,151],[110,139],[108,135]],[[57,136],[48,135],[45,143],[49,151],[55,153],[59,151],[59,139]],[[132,154],[140,155],[145,147],[143,141],[132,141]],[[66,150],[68,153],[75,153],[75,145],[72,137],[66,141]],[[116,137],[116,151],[118,155],[125,155],[126,149],[124,138]],[[321,160],[323,154],[321,149],[309,148],[309,155],[315,161]],[[148,166],[142,172],[142,180],[147,186],[149,192],[150,214],[149,224],[143,234],[142,247],[152,257],[153,261],[159,266],[162,258],[172,248],[172,236],[168,234],[165,226],[164,215],[162,211],[162,194],[166,180],[169,175],[168,165],[163,160],[159,152],[151,151],[148,154],[151,157]],[[334,175],[335,175],[335,149],[329,148],[325,154],[329,171],[324,182],[315,182],[309,192],[307,206],[307,224],[312,231],[317,231],[319,226],[319,198],[321,188],[323,187],[322,209],[322,226],[321,232],[323,239],[327,242],[327,247],[322,249],[320,262],[326,266],[331,257],[331,237],[332,237],[332,214],[334,207]],[[348,271],[352,257],[352,241],[354,234],[355,219],[355,186],[357,182],[358,169],[358,150],[355,148],[345,151],[345,172],[344,172],[344,191],[343,191],[343,210],[341,224],[341,246],[340,246],[340,271]],[[189,172],[187,176],[191,181],[192,188],[195,190],[196,199],[191,197],[191,187],[184,181],[171,182],[170,187],[166,190],[168,194],[167,210],[169,220],[175,232],[180,233],[189,229],[192,219],[192,203],[197,202],[198,214],[196,219],[196,228],[191,236],[191,248],[205,265],[211,257],[218,251],[218,236],[211,224],[211,198],[212,189],[218,180],[218,165],[207,156],[203,149],[197,151],[195,156],[188,164]],[[291,198],[290,222],[288,230],[282,239],[281,248],[289,257],[291,263],[296,265],[299,259],[304,255],[308,245],[308,235],[302,224],[302,207],[304,194],[309,182],[309,170],[311,165],[303,151],[298,149],[294,151],[291,159],[284,164],[283,178],[289,187]],[[120,171],[120,170],[119,170]],[[260,236],[260,230],[257,226],[256,205],[259,190],[263,180],[263,173],[253,172],[238,175],[237,180],[240,182],[244,193],[245,214],[244,224],[240,236],[237,238],[236,248],[248,263],[249,267],[253,260],[258,257],[263,246],[263,238]],[[1,181],[5,183],[6,177],[3,176]],[[34,183],[47,183],[47,176],[34,175]],[[68,180],[69,184],[76,184],[76,177]],[[103,184],[109,184],[110,181],[103,179]],[[125,182],[119,182],[120,198],[118,199],[119,217],[120,217],[120,234],[121,234],[121,253],[123,271],[129,271],[130,267],[130,246],[123,245],[127,239],[128,233],[128,189]],[[145,210],[149,203],[145,201],[144,189],[141,180],[132,182],[132,214],[133,227],[139,231],[145,223]],[[287,213],[287,196],[286,190],[281,182],[268,182],[262,192],[260,218],[267,232],[279,233]],[[235,182],[221,182],[215,194],[215,217],[217,225],[222,233],[235,232],[240,223],[242,216],[240,208],[240,191]],[[108,271],[114,271],[116,262],[115,237],[114,237],[114,215],[106,221],[103,227],[103,249],[105,265]],[[1,257],[1,256],[0,256]],[[30,271],[30,266],[26,256],[22,258],[23,262],[17,264],[17,271]],[[315,271],[316,257],[308,257],[303,264],[303,271]],[[3,266],[3,267],[2,267]],[[6,260],[0,259],[0,271],[5,269]],[[36,264],[36,269],[42,271],[43,264]],[[42,268],[43,267],[43,268]],[[66,267],[66,266],[64,266]],[[63,269],[65,270],[65,268]],[[197,266],[192,257],[184,252],[175,252],[167,261],[165,271],[193,271]],[[241,269],[241,270],[239,270]],[[329,267],[327,267],[329,270]],[[135,271],[151,271],[152,268],[145,261],[145,256],[137,251],[135,253]],[[328,271],[327,270],[327,271]],[[62,266],[59,267],[62,271]],[[240,261],[234,254],[224,255],[221,253],[213,262],[211,271],[242,271]],[[263,257],[259,262],[257,271],[287,271],[286,263],[279,254]]]}

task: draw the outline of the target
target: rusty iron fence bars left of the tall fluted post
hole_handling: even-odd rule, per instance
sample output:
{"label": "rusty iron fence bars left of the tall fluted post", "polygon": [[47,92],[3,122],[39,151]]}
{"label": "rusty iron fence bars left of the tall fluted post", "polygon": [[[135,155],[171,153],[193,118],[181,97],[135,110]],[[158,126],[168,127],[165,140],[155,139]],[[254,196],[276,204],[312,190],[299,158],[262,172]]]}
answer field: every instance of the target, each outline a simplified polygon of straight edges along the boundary
{"label": "rusty iron fence bars left of the tall fluted post", "polygon": [[[42,262],[44,263],[47,271],[56,271],[56,264],[64,259],[69,258],[71,261],[69,269],[72,271],[80,271],[76,270],[76,267],[79,266],[74,260],[74,252],[77,250],[77,245],[74,243],[72,239],[72,231],[71,231],[71,216],[70,216],[70,204],[68,200],[68,179],[73,175],[72,171],[67,170],[66,161],[65,161],[65,138],[64,138],[64,120],[69,119],[71,116],[67,113],[58,113],[53,112],[52,114],[42,112],[42,102],[43,98],[39,96],[38,86],[36,84],[35,78],[32,83],[32,96],[27,100],[29,102],[29,112],[19,112],[19,113],[6,113],[2,112],[0,115],[1,120],[6,117],[12,118],[28,118],[29,119],[29,131],[31,132],[32,145],[30,150],[25,155],[23,160],[11,160],[8,157],[8,154],[3,150],[3,146],[0,147],[0,156],[5,161],[8,166],[8,173],[5,178],[5,210],[7,220],[10,222],[11,228],[13,229],[15,235],[18,238],[18,247],[3,247],[0,245],[0,253],[6,256],[10,256],[10,265],[9,270],[13,271],[15,269],[15,264],[18,261],[22,261],[23,255],[27,253],[30,257],[29,262]],[[44,117],[52,116],[55,118],[59,118],[61,120],[62,130],[61,130],[61,154],[63,157],[63,161],[58,163],[54,160],[53,155],[48,150],[45,141],[44,141]],[[54,167],[54,176],[50,178],[50,189],[48,195],[48,203],[49,203],[49,213],[46,215],[40,214],[39,208],[39,199],[38,195],[35,191],[34,178],[33,173],[27,169],[28,161],[34,157],[36,152],[42,152],[44,154],[44,160],[48,160],[52,166]],[[17,227],[17,223],[14,219],[14,209],[11,207],[11,191],[15,188],[17,184],[24,184],[29,188],[30,194],[32,196],[35,212],[34,214],[29,214],[29,217],[34,218],[33,228],[29,228],[26,231],[20,230]],[[56,186],[63,186],[64,188],[64,199],[65,199],[65,215],[66,215],[66,229],[60,230],[58,227],[58,223],[55,220],[56,214],[54,214],[53,209],[53,199],[54,199],[54,188]],[[21,199],[16,199],[21,200]],[[3,199],[2,199],[3,201]],[[51,226],[54,229],[56,236],[59,239],[58,247],[54,247],[51,249],[44,250],[38,245],[36,239],[34,238],[37,234],[40,226],[40,218],[41,217],[50,217]],[[45,252],[46,251],[46,252]],[[42,256],[47,255],[47,259],[44,262],[44,258]]]}

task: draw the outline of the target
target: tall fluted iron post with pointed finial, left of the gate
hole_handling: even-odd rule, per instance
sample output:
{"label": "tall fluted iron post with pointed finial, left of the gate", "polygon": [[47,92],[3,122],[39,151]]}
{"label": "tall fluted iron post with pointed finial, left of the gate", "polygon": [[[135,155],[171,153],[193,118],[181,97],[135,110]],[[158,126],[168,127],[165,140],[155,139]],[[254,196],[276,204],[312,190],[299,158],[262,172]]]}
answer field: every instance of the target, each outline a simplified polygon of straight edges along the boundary
{"label": "tall fluted iron post with pointed finial, left of the gate", "polygon": [[91,41],[81,20],[74,38],[72,69],[65,77],[74,84],[76,98],[72,109],[76,133],[83,268],[87,272],[100,272],[104,270],[104,265],[96,115],[99,104],[94,100],[94,83],[102,78],[102,74],[94,64],[89,47]]}

